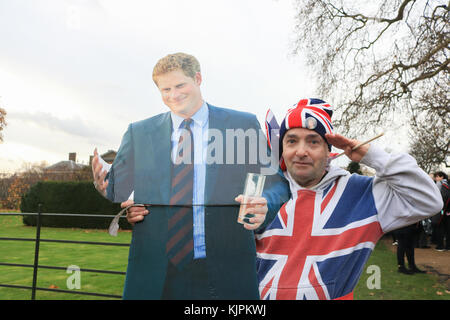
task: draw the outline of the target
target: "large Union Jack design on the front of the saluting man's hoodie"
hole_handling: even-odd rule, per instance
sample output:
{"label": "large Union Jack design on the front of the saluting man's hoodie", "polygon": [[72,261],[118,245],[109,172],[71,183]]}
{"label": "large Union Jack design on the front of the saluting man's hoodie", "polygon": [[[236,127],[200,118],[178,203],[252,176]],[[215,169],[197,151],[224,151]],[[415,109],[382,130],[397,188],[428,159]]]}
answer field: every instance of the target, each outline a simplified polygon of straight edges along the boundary
{"label": "large Union Jack design on the front of the saluting man's hoodie", "polygon": [[261,299],[351,294],[382,235],[371,190],[371,178],[348,175],[321,190],[292,192],[256,235]]}

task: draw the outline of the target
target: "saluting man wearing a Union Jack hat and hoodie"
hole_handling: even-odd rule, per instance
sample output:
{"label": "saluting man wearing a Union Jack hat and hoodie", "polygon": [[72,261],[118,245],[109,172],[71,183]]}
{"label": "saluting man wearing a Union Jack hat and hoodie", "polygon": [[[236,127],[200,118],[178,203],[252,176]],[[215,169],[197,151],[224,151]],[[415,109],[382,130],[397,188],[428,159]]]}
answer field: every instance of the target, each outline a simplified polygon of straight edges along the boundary
{"label": "saluting man wearing a Union Jack hat and hoodie", "polygon": [[[442,206],[433,181],[407,154],[333,133],[332,108],[302,99],[280,128],[280,166],[291,199],[257,235],[262,299],[352,299],[383,233]],[[374,178],[329,166],[331,146],[376,169]]]}

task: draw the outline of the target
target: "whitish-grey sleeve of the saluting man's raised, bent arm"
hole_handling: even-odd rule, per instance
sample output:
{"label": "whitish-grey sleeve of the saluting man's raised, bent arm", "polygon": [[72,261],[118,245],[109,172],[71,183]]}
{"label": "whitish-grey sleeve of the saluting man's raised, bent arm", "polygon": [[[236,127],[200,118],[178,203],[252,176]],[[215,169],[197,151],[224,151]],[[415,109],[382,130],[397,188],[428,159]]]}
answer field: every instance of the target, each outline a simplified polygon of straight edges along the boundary
{"label": "whitish-grey sleeve of the saluting man's raised, bent arm", "polygon": [[383,232],[411,225],[442,208],[439,189],[410,155],[371,145],[361,163],[376,170],[372,193]]}

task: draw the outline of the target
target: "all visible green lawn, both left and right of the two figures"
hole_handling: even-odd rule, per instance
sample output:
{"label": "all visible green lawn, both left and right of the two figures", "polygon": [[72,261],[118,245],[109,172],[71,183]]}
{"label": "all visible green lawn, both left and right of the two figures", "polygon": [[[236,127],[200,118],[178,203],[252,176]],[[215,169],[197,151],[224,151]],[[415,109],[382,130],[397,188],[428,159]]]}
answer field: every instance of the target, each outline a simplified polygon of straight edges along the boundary
{"label": "all visible green lawn, both left and right of the two figures", "polygon": [[[45,219],[45,217],[44,217]],[[22,224],[22,217],[0,216],[0,237],[34,238],[36,228]],[[117,237],[111,237],[105,230],[42,228],[41,239],[64,239],[81,241],[101,241],[129,243],[130,232],[119,232]],[[0,262],[33,264],[34,242],[0,241]],[[39,264],[67,268],[76,265],[81,269],[103,269],[125,271],[127,265],[128,247],[100,246],[90,244],[65,244],[41,242]],[[380,289],[369,289],[367,279],[372,273],[367,273],[371,265],[380,271]],[[42,288],[59,288],[68,290],[67,279],[71,274],[66,270],[39,269],[37,286]],[[31,286],[32,268],[0,266],[0,283]],[[122,295],[124,275],[81,272],[81,289],[78,291],[98,292],[103,294]],[[369,283],[373,283],[369,281]],[[73,290],[77,291],[77,290]],[[29,300],[31,290],[0,287],[1,300]],[[77,294],[65,294],[47,291],[37,291],[36,299],[106,299]],[[442,300],[450,299],[446,288],[432,274],[403,275],[397,272],[395,254],[381,241],[378,243],[362,277],[355,289],[357,300]]]}

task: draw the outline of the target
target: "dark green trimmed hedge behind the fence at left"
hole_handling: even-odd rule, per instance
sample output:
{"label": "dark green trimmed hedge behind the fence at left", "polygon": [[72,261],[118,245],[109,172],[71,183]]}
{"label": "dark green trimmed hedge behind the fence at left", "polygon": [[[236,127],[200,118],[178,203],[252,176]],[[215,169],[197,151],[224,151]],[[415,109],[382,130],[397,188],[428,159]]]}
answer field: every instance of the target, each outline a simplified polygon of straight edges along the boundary
{"label": "dark green trimmed hedge behind the fence at left", "polygon": [[[76,213],[86,217],[41,216],[41,225],[58,228],[108,229],[112,218],[89,217],[95,215],[115,215],[121,208],[95,190],[91,181],[41,181],[33,185],[22,197],[20,210],[42,213]],[[36,225],[36,216],[24,216],[23,223]],[[120,219],[121,229],[131,229],[126,219]]]}

